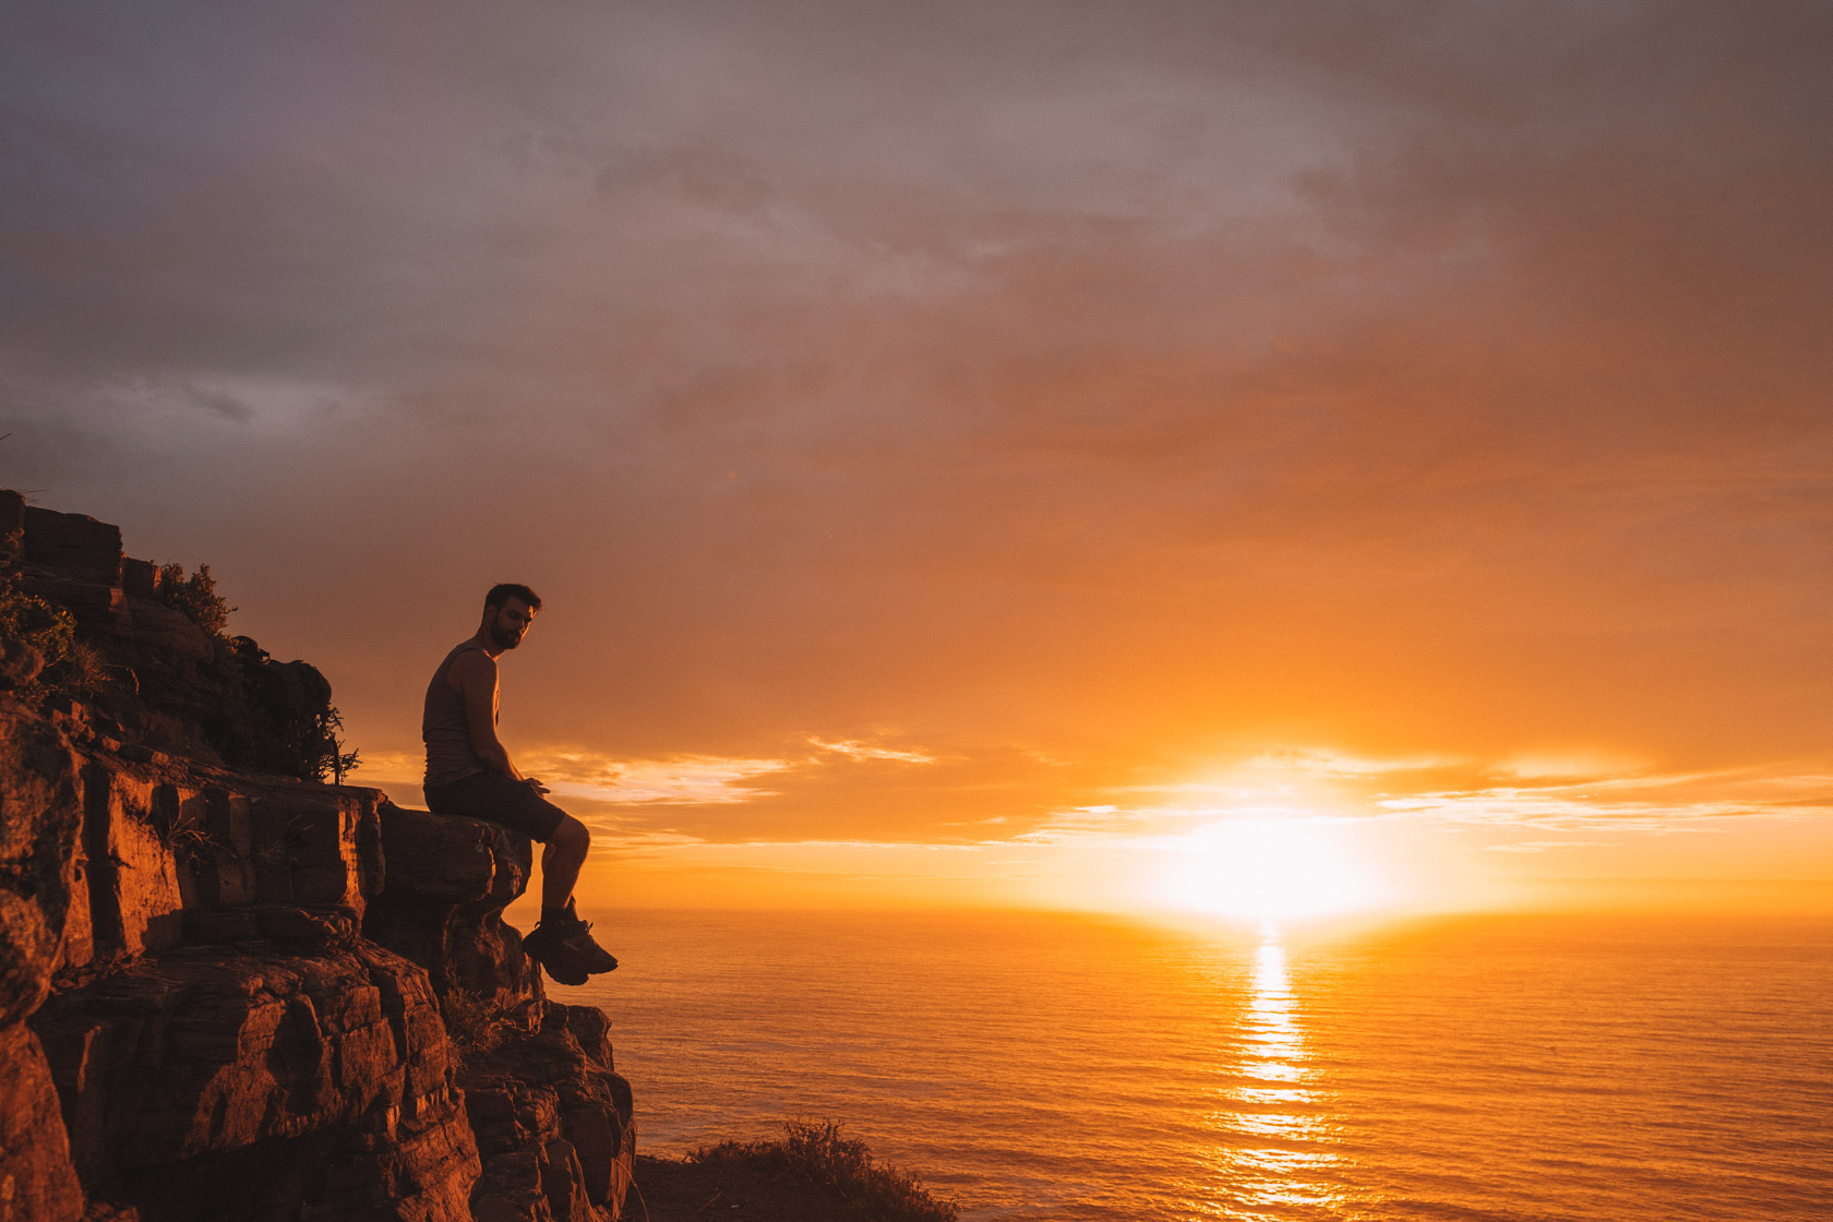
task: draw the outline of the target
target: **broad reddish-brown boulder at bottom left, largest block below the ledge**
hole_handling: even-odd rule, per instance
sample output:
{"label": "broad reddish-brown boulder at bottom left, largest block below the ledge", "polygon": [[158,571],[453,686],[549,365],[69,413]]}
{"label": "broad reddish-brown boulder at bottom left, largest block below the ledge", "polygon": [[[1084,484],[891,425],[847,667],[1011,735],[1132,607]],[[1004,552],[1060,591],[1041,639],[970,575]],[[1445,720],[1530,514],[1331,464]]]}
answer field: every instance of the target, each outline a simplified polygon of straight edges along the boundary
{"label": "broad reddish-brown boulder at bottom left, largest block below the ledge", "polygon": [[84,1185],[148,1222],[469,1217],[477,1147],[438,1002],[381,947],[178,947],[60,991],[33,1026]]}

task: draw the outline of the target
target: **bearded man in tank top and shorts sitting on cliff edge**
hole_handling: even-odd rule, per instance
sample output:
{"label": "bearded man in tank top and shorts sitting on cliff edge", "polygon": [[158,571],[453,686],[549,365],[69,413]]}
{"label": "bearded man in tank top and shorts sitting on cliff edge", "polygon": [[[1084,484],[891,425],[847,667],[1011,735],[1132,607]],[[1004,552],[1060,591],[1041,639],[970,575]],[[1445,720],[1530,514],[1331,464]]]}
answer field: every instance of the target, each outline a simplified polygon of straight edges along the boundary
{"label": "bearded man in tank top and shorts sitting on cliff edge", "polygon": [[543,797],[548,788],[517,771],[497,738],[497,658],[522,643],[539,610],[541,597],[528,586],[491,586],[477,634],[445,654],[427,683],[420,722],[427,810],[489,819],[541,841],[541,923],[522,949],[561,984],[585,984],[618,966],[574,911],[572,889],[592,834]]}

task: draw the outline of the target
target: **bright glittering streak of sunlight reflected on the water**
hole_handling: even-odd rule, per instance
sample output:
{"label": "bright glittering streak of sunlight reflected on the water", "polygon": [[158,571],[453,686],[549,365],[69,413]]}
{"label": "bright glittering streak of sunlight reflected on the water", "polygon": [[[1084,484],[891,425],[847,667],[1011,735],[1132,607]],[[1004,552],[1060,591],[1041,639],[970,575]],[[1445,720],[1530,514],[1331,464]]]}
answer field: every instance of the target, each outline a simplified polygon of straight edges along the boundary
{"label": "bright glittering streak of sunlight reflected on the water", "polygon": [[1228,1085],[1217,1092],[1221,1107],[1210,1116],[1219,1191],[1206,1213],[1243,1220],[1344,1217],[1340,1125],[1309,1061],[1276,929],[1263,933],[1256,951],[1235,1050]]}

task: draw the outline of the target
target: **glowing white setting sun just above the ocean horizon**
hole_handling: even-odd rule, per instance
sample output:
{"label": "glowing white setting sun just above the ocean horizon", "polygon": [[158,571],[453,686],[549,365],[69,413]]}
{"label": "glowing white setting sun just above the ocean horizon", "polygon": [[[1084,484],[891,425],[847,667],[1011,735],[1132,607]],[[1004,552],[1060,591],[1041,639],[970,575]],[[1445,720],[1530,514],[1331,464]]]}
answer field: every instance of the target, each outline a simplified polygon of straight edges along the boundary
{"label": "glowing white setting sun just above the ocean horizon", "polygon": [[1285,922],[1377,907],[1384,887],[1327,819],[1230,819],[1169,846],[1160,907]]}

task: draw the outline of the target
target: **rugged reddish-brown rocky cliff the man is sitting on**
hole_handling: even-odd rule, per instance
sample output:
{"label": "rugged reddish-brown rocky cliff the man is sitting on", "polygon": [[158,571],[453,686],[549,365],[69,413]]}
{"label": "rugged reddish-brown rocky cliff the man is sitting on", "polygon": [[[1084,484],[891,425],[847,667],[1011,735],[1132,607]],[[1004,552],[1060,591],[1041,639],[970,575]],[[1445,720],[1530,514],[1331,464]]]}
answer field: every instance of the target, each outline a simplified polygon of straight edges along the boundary
{"label": "rugged reddish-brown rocky cliff the man is sitting on", "polygon": [[502,922],[530,843],[251,771],[330,689],[159,575],[0,491],[0,1222],[620,1218],[610,1024]]}

